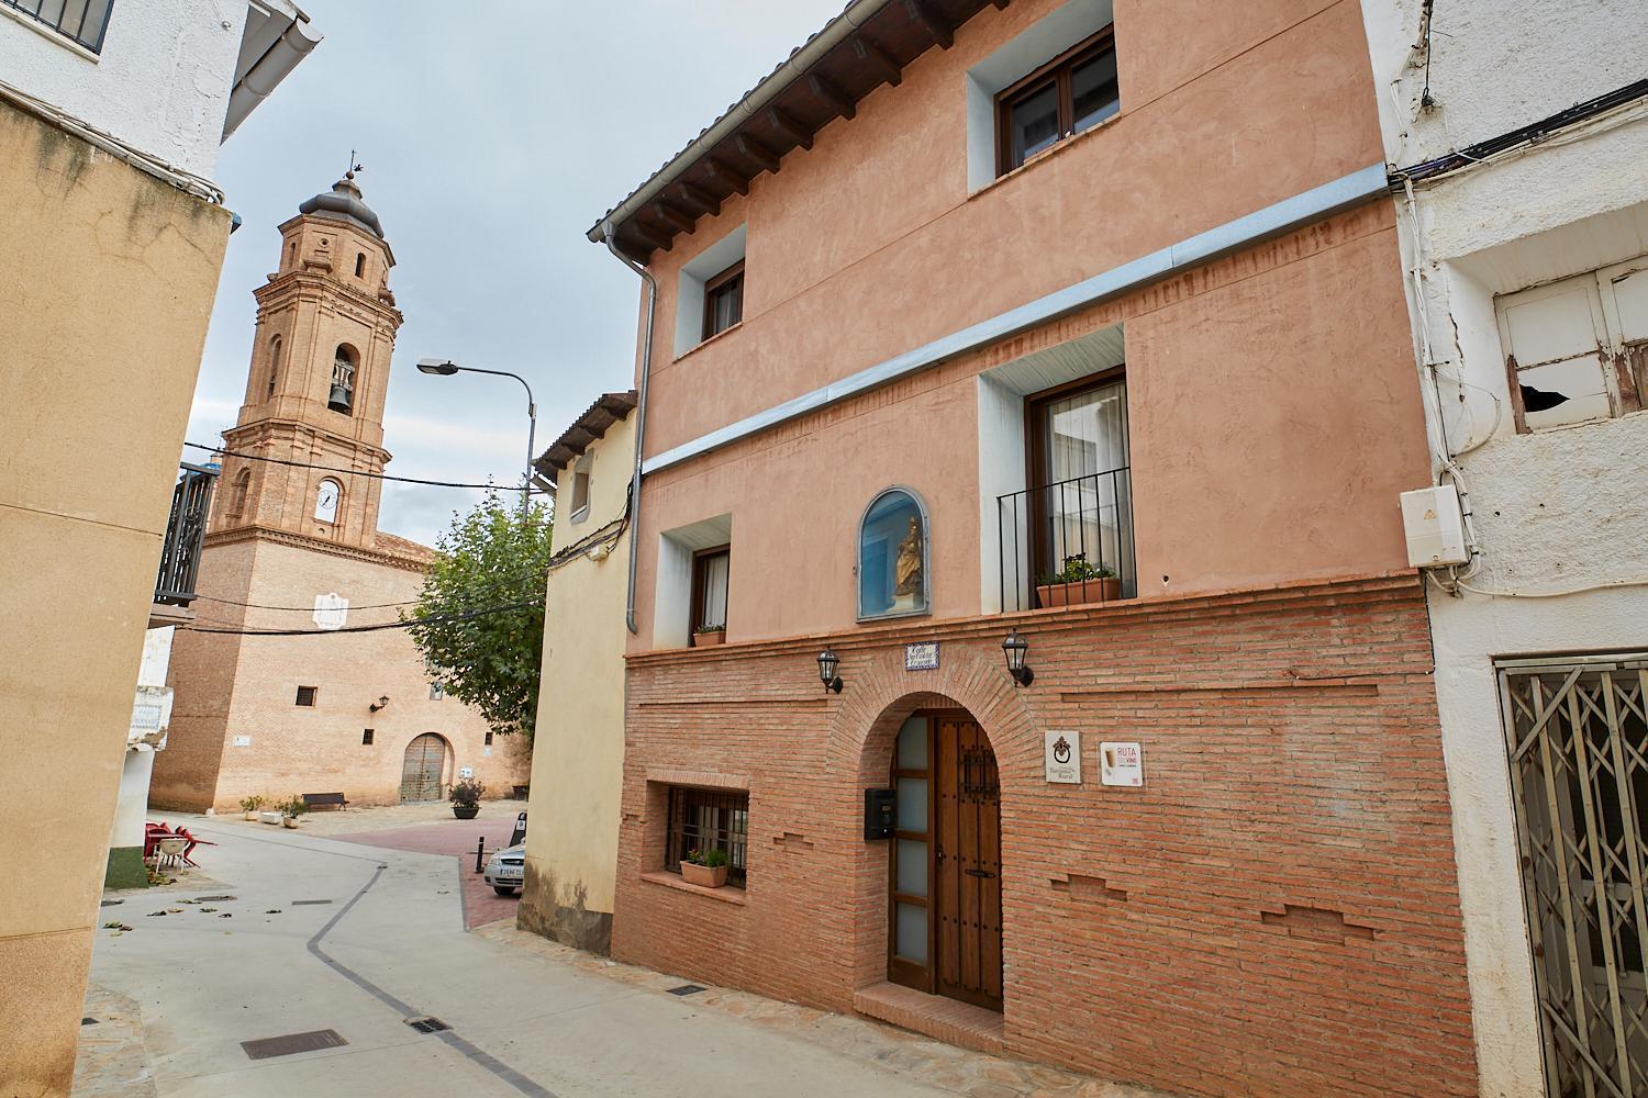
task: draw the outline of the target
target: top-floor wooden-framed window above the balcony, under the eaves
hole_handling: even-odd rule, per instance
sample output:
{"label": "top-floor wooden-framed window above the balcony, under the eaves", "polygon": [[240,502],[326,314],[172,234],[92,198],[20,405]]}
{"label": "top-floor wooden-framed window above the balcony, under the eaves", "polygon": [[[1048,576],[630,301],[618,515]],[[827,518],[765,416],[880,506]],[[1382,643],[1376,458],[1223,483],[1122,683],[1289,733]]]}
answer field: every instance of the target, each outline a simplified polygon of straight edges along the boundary
{"label": "top-floor wooden-framed window above the balcony, under the eaves", "polygon": [[995,97],[997,174],[1121,110],[1112,26],[1053,58]]}

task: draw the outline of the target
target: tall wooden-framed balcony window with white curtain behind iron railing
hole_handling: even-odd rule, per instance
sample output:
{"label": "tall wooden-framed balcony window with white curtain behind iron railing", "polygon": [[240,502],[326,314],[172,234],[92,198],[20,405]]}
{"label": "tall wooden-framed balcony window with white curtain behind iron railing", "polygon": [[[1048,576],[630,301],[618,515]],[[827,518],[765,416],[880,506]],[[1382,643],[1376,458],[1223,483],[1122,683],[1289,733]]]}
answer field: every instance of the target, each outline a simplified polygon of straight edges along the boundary
{"label": "tall wooden-framed balcony window with white curtain behind iron railing", "polygon": [[[1127,375],[1116,367],[1025,400],[1032,573],[1038,586],[1135,589]],[[1068,591],[1065,591],[1068,596]]]}

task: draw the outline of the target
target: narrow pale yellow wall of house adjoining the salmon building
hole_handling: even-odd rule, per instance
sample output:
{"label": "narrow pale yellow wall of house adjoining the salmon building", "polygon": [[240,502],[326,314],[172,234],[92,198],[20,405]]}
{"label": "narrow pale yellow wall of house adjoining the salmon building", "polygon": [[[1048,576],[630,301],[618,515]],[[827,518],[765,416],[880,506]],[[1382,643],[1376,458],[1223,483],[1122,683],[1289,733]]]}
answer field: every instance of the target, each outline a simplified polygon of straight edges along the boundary
{"label": "narrow pale yellow wall of house adjoining the salmon building", "polygon": [[[590,446],[588,515],[582,522],[557,515],[557,551],[623,517],[636,418],[631,412]],[[570,468],[560,472],[557,489],[560,510],[572,499]],[[630,535],[597,543],[611,545],[603,560],[574,556],[550,571],[547,583],[521,925],[605,951],[623,787]]]}

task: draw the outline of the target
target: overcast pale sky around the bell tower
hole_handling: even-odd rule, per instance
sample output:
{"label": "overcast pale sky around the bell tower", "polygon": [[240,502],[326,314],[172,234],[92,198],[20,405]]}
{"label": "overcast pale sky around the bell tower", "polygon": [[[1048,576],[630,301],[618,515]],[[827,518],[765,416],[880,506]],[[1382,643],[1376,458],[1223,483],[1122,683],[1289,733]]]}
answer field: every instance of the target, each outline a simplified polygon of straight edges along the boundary
{"label": "overcast pale sky around the bell tower", "polygon": [[[519,484],[521,387],[427,377],[417,361],[522,374],[539,453],[595,397],[630,388],[639,280],[585,230],[842,3],[302,0],[325,40],[218,161],[246,224],[229,239],[190,441],[218,443],[234,423],[275,227],[331,188],[354,148],[405,313],[389,472]],[[391,482],[381,528],[432,543],[471,499]]]}

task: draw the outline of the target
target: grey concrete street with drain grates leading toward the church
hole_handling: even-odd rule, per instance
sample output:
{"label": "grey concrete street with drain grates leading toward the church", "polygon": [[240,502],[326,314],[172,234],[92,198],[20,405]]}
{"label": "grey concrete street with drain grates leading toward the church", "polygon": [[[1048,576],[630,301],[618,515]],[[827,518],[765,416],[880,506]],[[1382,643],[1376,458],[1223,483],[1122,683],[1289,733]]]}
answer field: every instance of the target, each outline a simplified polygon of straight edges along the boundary
{"label": "grey concrete street with drain grates leading toward the church", "polygon": [[[1134,1093],[742,993],[669,994],[682,981],[508,924],[466,933],[473,861],[183,821],[218,843],[198,854],[213,887],[104,909],[132,930],[99,930],[76,1095]],[[405,1024],[422,1016],[450,1029]],[[257,1060],[241,1044],[315,1031],[344,1044]]]}

